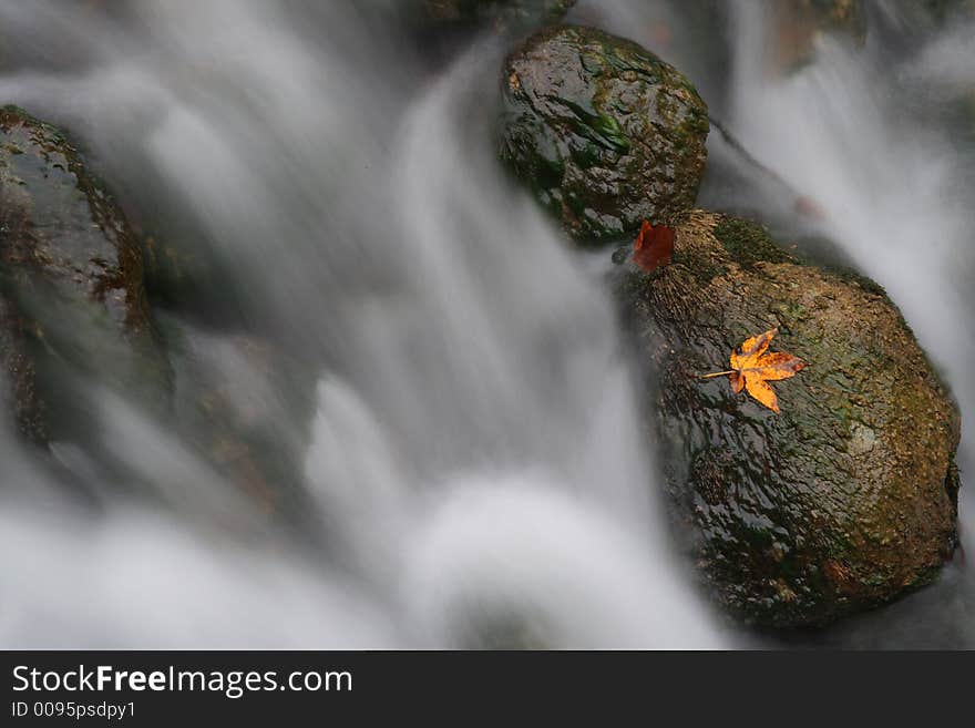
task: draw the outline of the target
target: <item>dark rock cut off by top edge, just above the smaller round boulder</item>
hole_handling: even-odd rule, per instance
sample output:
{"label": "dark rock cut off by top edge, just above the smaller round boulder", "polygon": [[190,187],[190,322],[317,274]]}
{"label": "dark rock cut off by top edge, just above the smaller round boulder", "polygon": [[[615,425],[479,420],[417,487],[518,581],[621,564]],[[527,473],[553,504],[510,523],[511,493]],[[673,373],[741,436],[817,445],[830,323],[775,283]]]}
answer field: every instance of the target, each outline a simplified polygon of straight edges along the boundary
{"label": "dark rock cut off by top edge, just above the smaller round boulder", "polygon": [[422,16],[439,25],[517,33],[557,22],[575,0],[421,0]]}

